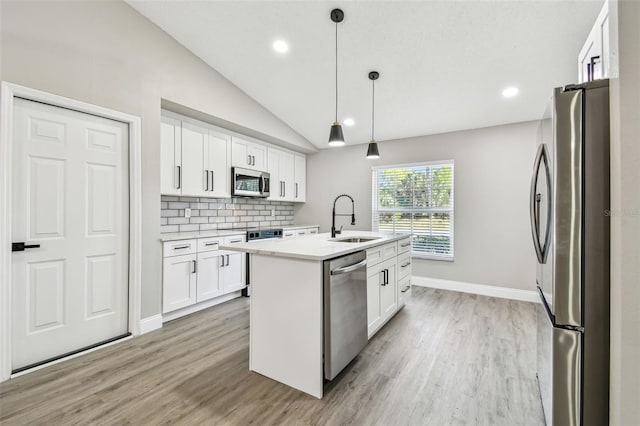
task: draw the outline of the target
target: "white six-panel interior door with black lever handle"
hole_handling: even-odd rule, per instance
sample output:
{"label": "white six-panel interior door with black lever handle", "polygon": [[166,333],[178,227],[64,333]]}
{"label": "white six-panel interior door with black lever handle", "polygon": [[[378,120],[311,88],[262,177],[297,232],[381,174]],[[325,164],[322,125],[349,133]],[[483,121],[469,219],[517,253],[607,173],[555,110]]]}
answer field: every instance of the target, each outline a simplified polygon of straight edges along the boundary
{"label": "white six-panel interior door with black lever handle", "polygon": [[12,370],[128,334],[128,125],[15,100]]}

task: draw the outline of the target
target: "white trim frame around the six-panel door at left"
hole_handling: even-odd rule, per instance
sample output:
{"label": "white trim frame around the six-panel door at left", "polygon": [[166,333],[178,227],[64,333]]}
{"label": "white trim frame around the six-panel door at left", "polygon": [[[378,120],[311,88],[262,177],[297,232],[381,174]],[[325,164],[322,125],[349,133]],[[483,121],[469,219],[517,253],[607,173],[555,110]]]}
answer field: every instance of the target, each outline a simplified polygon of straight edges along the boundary
{"label": "white trim frame around the six-panel door at left", "polygon": [[142,287],[142,159],[140,117],[0,82],[0,382],[11,376],[11,180],[16,97],[84,112],[129,125],[129,332],[140,334]]}

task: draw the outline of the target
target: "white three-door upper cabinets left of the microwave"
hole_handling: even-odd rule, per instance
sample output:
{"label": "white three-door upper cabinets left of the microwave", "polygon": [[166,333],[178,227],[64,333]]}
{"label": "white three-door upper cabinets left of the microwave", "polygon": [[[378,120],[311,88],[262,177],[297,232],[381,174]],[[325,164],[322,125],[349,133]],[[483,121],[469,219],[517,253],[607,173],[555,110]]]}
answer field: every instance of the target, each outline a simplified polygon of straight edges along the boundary
{"label": "white three-door upper cabinets left of the microwave", "polygon": [[230,196],[231,136],[171,114],[162,117],[160,139],[162,194]]}

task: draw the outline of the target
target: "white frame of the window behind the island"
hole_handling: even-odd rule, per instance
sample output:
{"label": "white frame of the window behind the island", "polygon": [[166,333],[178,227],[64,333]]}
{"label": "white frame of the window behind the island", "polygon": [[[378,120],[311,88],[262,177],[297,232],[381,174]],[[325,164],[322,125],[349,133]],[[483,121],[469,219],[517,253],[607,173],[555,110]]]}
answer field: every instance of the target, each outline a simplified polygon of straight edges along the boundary
{"label": "white frame of the window behind the island", "polygon": [[[388,170],[388,169],[402,169],[402,168],[414,168],[414,167],[430,167],[430,166],[444,166],[444,165],[450,165],[451,166],[451,208],[440,208],[440,207],[435,207],[435,208],[404,208],[404,209],[397,209],[397,208],[388,208],[388,207],[384,207],[382,209],[378,208],[378,200],[380,198],[379,196],[379,187],[378,187],[378,177],[377,177],[377,173],[380,170]],[[446,256],[434,256],[432,254],[427,254],[427,253],[423,253],[423,252],[417,252],[414,251],[413,249],[413,245],[411,247],[411,257],[412,258],[418,258],[418,259],[427,259],[427,260],[438,260],[438,261],[444,261],[444,262],[453,262],[455,261],[455,161],[453,159],[450,160],[438,160],[438,161],[421,161],[421,162],[415,162],[415,163],[403,163],[403,164],[388,164],[388,165],[380,165],[380,166],[372,166],[371,167],[371,226],[374,232],[379,232],[379,226],[378,223],[379,221],[376,220],[376,216],[379,215],[379,213],[381,212],[389,212],[389,213],[412,213],[412,214],[416,214],[416,213],[438,213],[438,210],[441,210],[442,212],[447,212],[450,214],[449,218],[450,218],[450,223],[451,223],[451,232],[450,232],[450,238],[451,238],[451,255],[446,255]],[[413,227],[413,225],[412,225]],[[400,231],[398,231],[400,232]],[[412,232],[412,239],[415,238],[415,235]]]}

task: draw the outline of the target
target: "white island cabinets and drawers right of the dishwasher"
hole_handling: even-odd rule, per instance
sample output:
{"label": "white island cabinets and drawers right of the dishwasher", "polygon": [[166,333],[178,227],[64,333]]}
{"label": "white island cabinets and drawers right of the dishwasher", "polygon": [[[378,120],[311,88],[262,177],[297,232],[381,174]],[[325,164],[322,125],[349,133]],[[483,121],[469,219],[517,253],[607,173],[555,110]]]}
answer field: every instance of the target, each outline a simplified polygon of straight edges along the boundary
{"label": "white island cabinets and drawers right of the dishwasher", "polygon": [[404,306],[410,291],[410,238],[367,250],[367,332],[369,338]]}

